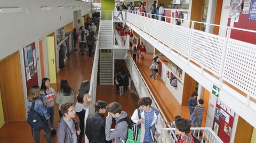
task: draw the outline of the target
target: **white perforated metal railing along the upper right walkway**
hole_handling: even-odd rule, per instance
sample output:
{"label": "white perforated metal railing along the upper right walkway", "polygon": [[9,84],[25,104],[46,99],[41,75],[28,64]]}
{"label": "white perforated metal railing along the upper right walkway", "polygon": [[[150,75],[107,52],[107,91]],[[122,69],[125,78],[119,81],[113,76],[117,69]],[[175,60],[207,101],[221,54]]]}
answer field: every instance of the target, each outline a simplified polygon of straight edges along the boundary
{"label": "white perforated metal railing along the upper right walkway", "polygon": [[[126,22],[148,37],[154,37],[157,43],[170,53],[181,55],[179,57],[183,57],[182,60],[186,60],[189,64],[195,63],[195,66],[190,67],[197,66],[196,70],[201,69],[202,73],[210,72],[211,78],[217,80],[220,87],[229,87],[226,91],[235,92],[232,89],[235,87],[244,92],[247,96],[236,97],[256,110],[256,104],[253,102],[256,100],[256,45],[229,38],[230,30],[253,33],[256,31],[182,20],[191,23],[191,28],[187,28],[175,25],[176,18],[163,16],[164,21],[161,21],[159,15],[152,15],[154,14],[130,11],[126,14]],[[226,37],[221,37],[199,31],[194,29],[196,24],[226,28],[228,34]]]}

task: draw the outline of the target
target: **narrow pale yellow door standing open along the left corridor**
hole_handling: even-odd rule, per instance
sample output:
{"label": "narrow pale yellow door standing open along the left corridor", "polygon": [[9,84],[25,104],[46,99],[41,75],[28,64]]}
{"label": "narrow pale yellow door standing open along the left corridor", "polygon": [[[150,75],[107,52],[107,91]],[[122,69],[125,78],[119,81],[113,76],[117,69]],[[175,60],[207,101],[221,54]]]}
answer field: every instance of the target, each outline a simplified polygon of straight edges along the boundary
{"label": "narrow pale yellow door standing open along the left corridor", "polygon": [[51,80],[51,83],[57,83],[54,37],[53,36],[47,36],[47,57],[48,57],[49,79]]}

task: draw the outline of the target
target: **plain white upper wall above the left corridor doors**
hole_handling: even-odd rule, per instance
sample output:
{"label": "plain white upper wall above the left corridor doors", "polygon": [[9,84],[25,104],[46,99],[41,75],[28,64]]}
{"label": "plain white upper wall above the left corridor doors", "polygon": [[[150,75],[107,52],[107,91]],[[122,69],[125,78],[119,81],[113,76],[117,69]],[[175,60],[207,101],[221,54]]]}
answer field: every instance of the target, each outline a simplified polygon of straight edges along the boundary
{"label": "plain white upper wall above the left corridor doors", "polygon": [[[75,10],[74,5],[77,6]],[[91,6],[90,3],[69,0],[1,0],[1,7],[22,7],[23,12],[0,16],[0,60],[72,22],[73,11],[81,10],[82,15],[91,11],[90,7],[82,7],[85,5]],[[41,6],[51,6],[51,10],[43,11]],[[65,9],[60,10],[58,6],[65,6]]]}

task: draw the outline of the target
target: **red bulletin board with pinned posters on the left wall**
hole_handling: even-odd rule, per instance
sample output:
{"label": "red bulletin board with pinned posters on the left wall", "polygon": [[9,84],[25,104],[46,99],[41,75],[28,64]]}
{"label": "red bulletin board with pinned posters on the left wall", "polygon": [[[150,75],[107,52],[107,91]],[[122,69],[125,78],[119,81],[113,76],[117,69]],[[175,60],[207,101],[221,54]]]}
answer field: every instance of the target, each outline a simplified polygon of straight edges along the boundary
{"label": "red bulletin board with pinned posters on the left wall", "polygon": [[23,55],[23,61],[25,65],[24,70],[26,75],[26,87],[28,92],[31,86],[38,85],[35,43],[24,47]]}

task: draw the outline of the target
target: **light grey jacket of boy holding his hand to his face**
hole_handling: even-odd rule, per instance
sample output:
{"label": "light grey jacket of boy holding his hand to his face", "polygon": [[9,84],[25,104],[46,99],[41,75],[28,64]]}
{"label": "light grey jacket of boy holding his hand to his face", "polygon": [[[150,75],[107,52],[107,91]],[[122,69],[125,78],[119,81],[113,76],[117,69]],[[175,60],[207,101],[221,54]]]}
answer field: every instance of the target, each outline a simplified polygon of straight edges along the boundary
{"label": "light grey jacket of boy holding his hand to his face", "polygon": [[[116,123],[127,116],[127,113],[122,111],[121,116],[116,118]],[[106,117],[106,139],[111,140],[115,138],[115,143],[124,143],[127,139],[128,127],[126,122],[116,124],[115,130],[111,131],[112,117]]]}

